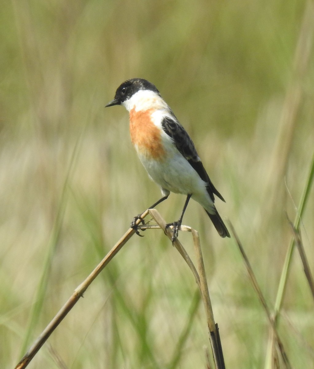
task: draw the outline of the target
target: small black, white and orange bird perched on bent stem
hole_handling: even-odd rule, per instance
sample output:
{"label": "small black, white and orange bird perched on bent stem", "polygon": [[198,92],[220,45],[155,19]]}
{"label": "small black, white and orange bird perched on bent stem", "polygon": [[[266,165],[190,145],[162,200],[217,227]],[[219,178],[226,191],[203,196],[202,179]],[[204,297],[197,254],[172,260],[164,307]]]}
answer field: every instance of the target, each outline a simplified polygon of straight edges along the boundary
{"label": "small black, white and orange bird perched on bent stem", "polygon": [[[218,234],[223,238],[230,237],[214,206],[214,196],[225,200],[209,179],[192,139],[157,87],[143,78],[128,79],[118,87],[114,99],[105,107],[115,105],[122,105],[129,111],[132,144],[150,179],[161,190],[162,197],[149,209],[166,200],[171,192],[186,195],[179,220],[166,225],[166,230],[173,227],[172,243],[178,237],[191,198],[205,209]],[[144,224],[139,214],[134,217],[131,227],[140,235],[138,220]]]}

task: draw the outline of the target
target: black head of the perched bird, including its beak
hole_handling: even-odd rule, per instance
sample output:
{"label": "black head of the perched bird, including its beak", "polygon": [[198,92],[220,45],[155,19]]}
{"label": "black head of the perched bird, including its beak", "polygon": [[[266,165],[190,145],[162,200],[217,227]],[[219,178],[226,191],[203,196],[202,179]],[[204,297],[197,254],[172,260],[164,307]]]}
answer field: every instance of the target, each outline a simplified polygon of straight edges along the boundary
{"label": "black head of the perched bird, including its beak", "polygon": [[105,107],[113,105],[121,105],[125,100],[128,100],[139,90],[149,90],[156,92],[159,96],[160,93],[153,83],[148,82],[143,78],[132,78],[123,82],[116,90],[114,100],[110,101]]}

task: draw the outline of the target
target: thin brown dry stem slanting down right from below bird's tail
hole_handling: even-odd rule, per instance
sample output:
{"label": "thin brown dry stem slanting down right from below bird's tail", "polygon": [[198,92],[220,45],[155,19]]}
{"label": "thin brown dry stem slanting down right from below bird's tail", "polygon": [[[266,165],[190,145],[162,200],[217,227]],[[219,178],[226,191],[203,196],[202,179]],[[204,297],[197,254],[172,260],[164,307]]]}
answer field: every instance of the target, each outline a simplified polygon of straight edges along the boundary
{"label": "thin brown dry stem slanting down right from below bird's tail", "polygon": [[[277,331],[277,328],[276,328],[276,325],[275,325],[275,321],[274,321],[274,319],[272,317],[272,314],[271,314],[271,311],[269,310],[269,307],[268,307],[268,305],[266,303],[265,297],[262,294],[261,288],[259,287],[259,284],[257,282],[257,279],[256,279],[255,275],[254,275],[254,272],[253,272],[253,269],[251,267],[251,264],[250,264],[250,262],[248,260],[248,257],[245,254],[244,248],[243,248],[243,246],[241,244],[241,241],[240,241],[240,239],[239,239],[239,237],[238,237],[238,235],[236,233],[236,230],[233,227],[233,224],[230,221],[228,221],[228,224],[229,224],[230,229],[231,229],[231,232],[233,233],[233,236],[234,236],[234,238],[235,238],[235,240],[237,242],[238,248],[240,249],[241,255],[243,257],[245,266],[246,266],[247,271],[248,271],[248,275],[249,275],[250,281],[252,283],[252,286],[253,286],[255,292],[257,293],[258,299],[261,302],[261,304],[262,304],[262,306],[263,306],[263,308],[265,310],[267,319],[268,319],[268,321],[269,321],[269,323],[270,323],[270,325],[272,327],[272,334],[273,334],[273,337],[275,338],[275,341],[277,342],[278,349],[279,349],[279,352],[281,354],[282,360],[283,360],[286,368],[291,369],[292,367],[290,365],[290,362],[289,362],[289,359],[287,357],[286,351],[285,351],[285,349],[283,347],[282,341],[281,341],[281,339],[279,337],[279,334],[278,334],[278,331]],[[275,352],[273,352],[273,355],[275,355]],[[276,358],[275,358],[275,356],[273,356],[273,362],[275,362],[275,361],[276,361]]]}

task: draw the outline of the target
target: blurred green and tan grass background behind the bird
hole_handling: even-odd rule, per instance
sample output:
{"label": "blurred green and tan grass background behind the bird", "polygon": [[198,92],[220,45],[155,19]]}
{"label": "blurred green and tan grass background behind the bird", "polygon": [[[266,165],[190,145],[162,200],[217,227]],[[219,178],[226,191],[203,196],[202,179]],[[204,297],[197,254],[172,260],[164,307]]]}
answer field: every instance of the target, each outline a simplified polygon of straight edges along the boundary
{"label": "blurred green and tan grass background behind the bird", "polygon": [[[132,77],[153,82],[191,135],[227,201],[217,208],[273,307],[292,237],[285,212],[296,216],[313,154],[308,4],[3,1],[1,368],[16,365],[133,216],[160,197],[130,143],[126,111],[104,109]],[[302,32],[308,54],[298,51]],[[183,204],[172,194],[158,210],[170,222]],[[311,266],[313,223],[312,191],[301,227]],[[268,324],[234,241],[221,239],[194,202],[184,224],[200,232],[227,368],[262,368]],[[180,239],[193,255],[190,235]],[[294,368],[313,368],[313,330],[295,252],[279,324]],[[162,232],[146,231],[29,367],[61,368],[60,358],[66,368],[205,368],[208,345],[191,273]]]}

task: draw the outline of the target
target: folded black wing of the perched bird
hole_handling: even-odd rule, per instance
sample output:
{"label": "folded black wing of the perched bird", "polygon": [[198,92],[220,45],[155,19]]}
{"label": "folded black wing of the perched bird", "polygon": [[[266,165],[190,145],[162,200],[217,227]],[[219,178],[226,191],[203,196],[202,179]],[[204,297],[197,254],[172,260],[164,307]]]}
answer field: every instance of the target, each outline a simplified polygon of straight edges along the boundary
{"label": "folded black wing of the perched bird", "polygon": [[200,161],[193,141],[191,140],[185,129],[182,127],[182,125],[176,119],[170,117],[163,118],[161,125],[167,135],[169,135],[173,139],[174,145],[178,149],[178,151],[190,163],[192,168],[196,170],[200,178],[207,183],[207,191],[210,198],[214,201],[215,199],[213,194],[215,194],[217,197],[219,197],[219,199],[224,201],[224,198],[216,190],[216,188],[212,184],[212,181],[209,179],[209,176],[206,173],[202,162]]}

